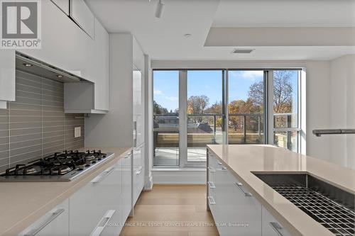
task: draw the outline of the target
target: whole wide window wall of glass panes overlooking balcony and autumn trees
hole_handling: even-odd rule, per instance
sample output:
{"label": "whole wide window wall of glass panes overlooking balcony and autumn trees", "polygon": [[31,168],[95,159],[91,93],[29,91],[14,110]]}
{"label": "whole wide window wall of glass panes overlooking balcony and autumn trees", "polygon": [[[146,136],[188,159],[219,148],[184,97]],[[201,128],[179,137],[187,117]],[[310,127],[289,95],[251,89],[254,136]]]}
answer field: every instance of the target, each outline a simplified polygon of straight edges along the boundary
{"label": "whole wide window wall of glass panes overlooking balcony and autumn trees", "polygon": [[153,70],[153,165],[203,167],[209,144],[300,152],[300,69]]}

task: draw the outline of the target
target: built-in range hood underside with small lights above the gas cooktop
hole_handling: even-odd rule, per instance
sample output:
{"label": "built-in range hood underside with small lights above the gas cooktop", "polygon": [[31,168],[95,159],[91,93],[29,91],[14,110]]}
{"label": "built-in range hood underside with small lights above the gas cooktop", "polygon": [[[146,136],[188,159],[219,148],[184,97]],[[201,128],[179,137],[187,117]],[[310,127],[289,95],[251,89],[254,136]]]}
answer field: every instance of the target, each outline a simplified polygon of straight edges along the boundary
{"label": "built-in range hood underside with small lights above the gas cooktop", "polygon": [[33,57],[29,57],[20,52],[16,52],[16,69],[62,83],[87,82],[86,79],[78,77],[75,74],[66,72],[63,69],[54,67],[53,65],[34,59]]}

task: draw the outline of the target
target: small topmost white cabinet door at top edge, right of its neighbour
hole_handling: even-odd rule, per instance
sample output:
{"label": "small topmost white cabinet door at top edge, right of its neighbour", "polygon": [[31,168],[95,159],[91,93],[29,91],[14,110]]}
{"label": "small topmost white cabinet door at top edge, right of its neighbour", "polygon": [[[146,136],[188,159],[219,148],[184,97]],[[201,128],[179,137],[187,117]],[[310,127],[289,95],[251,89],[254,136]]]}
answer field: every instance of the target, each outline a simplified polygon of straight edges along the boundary
{"label": "small topmost white cabinet door at top edge, right of its neighbour", "polygon": [[84,30],[91,38],[94,38],[95,23],[94,14],[90,11],[84,0],[70,1],[70,17]]}

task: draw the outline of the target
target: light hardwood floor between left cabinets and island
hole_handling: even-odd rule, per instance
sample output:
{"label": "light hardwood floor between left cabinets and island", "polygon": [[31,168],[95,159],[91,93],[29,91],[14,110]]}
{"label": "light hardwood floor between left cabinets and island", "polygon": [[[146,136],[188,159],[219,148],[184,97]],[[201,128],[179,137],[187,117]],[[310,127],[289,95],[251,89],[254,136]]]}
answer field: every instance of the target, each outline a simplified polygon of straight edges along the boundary
{"label": "light hardwood floor between left cabinets and island", "polygon": [[121,236],[217,236],[204,185],[154,185],[143,191]]}

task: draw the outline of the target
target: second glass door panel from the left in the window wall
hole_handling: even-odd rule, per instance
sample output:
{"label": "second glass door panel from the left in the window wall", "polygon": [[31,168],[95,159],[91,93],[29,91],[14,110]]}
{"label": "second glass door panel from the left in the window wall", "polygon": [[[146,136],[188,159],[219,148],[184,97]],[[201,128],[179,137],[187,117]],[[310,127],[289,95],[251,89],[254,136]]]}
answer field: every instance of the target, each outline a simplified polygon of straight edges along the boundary
{"label": "second glass door panel from the left in the window wall", "polygon": [[206,145],[223,143],[223,71],[187,71],[187,162],[206,162]]}

